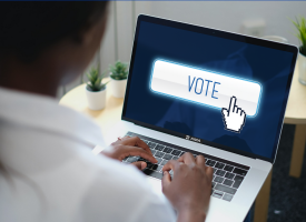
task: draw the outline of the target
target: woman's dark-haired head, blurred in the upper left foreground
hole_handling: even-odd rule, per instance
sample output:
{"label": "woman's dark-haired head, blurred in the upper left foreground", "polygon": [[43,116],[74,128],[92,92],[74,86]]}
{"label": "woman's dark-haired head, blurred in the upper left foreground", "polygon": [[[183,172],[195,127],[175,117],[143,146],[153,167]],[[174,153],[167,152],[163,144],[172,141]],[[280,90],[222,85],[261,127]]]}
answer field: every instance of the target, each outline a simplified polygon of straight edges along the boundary
{"label": "woman's dark-haired head, blurred in the upper left foreground", "polygon": [[103,1],[1,2],[0,85],[14,88],[21,72],[43,81],[38,70],[50,84],[71,81],[99,48],[106,14]]}

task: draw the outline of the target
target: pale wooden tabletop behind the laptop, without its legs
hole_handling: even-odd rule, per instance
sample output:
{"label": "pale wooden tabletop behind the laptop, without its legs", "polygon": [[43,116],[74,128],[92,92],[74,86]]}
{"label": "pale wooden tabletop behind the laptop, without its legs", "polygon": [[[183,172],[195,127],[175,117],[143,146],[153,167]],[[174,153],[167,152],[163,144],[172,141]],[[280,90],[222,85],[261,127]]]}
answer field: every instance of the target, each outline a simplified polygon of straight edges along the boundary
{"label": "pale wooden tabletop behind the laptop, without its legs", "polygon": [[[120,121],[124,99],[111,95],[110,84],[107,85],[106,108],[93,111],[87,107],[85,84],[70,90],[62,99],[60,104],[72,108],[79,112],[90,115],[101,127],[102,133]],[[295,70],[289,100],[285,114],[285,123],[306,124],[306,85],[298,82],[298,72]]]}

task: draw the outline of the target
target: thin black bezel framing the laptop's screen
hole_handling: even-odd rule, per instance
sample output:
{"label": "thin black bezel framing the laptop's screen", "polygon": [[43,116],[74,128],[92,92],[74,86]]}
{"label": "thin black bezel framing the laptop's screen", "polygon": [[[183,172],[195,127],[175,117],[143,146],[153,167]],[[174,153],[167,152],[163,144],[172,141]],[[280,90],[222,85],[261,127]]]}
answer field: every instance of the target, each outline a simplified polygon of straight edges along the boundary
{"label": "thin black bezel framing the laptop's screen", "polygon": [[200,140],[200,143],[206,144],[206,145],[210,145],[210,147],[214,147],[214,148],[217,148],[217,149],[226,150],[226,151],[234,152],[234,153],[237,153],[237,154],[241,154],[241,155],[245,155],[245,157],[248,157],[248,158],[260,159],[260,160],[265,160],[265,161],[268,161],[270,163],[274,163],[275,158],[276,158],[277,148],[278,148],[278,142],[279,142],[279,139],[280,139],[280,131],[282,131],[283,122],[284,122],[284,118],[285,118],[285,110],[286,110],[287,100],[288,100],[288,95],[289,95],[289,90],[290,90],[290,85],[292,85],[292,80],[293,80],[293,74],[294,74],[294,69],[295,69],[295,64],[296,64],[296,58],[297,58],[298,49],[294,46],[284,44],[284,43],[279,43],[279,42],[274,42],[274,41],[268,41],[268,40],[264,40],[264,39],[236,34],[236,33],[226,32],[226,31],[221,31],[221,30],[216,30],[216,29],[211,29],[211,28],[204,28],[204,27],[199,27],[199,26],[187,24],[187,23],[182,23],[182,22],[178,22],[178,21],[171,21],[171,20],[166,20],[166,19],[156,18],[156,17],[149,17],[149,16],[140,14],[138,17],[137,27],[136,27],[136,31],[135,31],[131,60],[130,60],[130,67],[129,67],[129,75],[128,75],[125,102],[124,102],[124,107],[122,107],[121,120],[129,121],[129,122],[132,122],[135,124],[148,128],[148,129],[152,129],[152,130],[156,130],[156,131],[159,131],[159,132],[164,132],[164,133],[171,134],[171,135],[175,135],[175,137],[178,137],[178,138],[184,138],[184,139],[186,138],[186,134],[184,134],[184,133],[167,130],[167,129],[164,129],[164,128],[160,128],[160,127],[156,127],[156,125],[152,125],[152,124],[140,122],[140,121],[129,119],[129,118],[126,117],[127,103],[128,103],[128,97],[129,97],[129,88],[130,88],[130,82],[131,82],[131,78],[132,78],[135,54],[136,54],[137,41],[138,41],[138,34],[139,34],[141,21],[151,22],[151,23],[161,24],[161,26],[171,27],[171,28],[177,28],[177,29],[182,29],[182,30],[187,30],[187,31],[194,31],[194,32],[209,34],[209,36],[215,36],[215,37],[230,39],[230,40],[235,40],[235,41],[257,44],[257,46],[260,46],[260,47],[267,47],[267,48],[272,48],[272,49],[277,49],[277,50],[282,50],[282,51],[292,52],[294,54],[292,65],[290,65],[290,71],[289,71],[290,73],[289,73],[288,82],[287,82],[287,85],[286,85],[286,91],[285,91],[285,95],[284,95],[283,105],[282,105],[282,115],[280,115],[279,121],[278,121],[278,127],[277,127],[278,129],[277,129],[277,133],[276,133],[276,137],[275,137],[272,158],[266,158],[266,157],[263,157],[263,155],[245,152],[245,151],[231,148],[231,147],[214,143],[214,142],[206,141],[206,140],[203,140],[203,139]]}

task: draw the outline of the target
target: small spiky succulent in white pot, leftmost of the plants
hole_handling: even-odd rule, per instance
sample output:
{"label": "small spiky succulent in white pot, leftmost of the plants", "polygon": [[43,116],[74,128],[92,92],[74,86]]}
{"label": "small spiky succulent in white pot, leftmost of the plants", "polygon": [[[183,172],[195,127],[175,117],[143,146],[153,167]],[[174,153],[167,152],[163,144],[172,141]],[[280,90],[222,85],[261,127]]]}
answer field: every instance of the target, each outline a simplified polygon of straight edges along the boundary
{"label": "small spiky succulent in white pot, leftmost of the plants", "polygon": [[101,110],[106,107],[106,84],[108,82],[102,83],[103,75],[100,75],[98,69],[95,68],[87,73],[89,81],[86,85],[86,95],[90,110]]}

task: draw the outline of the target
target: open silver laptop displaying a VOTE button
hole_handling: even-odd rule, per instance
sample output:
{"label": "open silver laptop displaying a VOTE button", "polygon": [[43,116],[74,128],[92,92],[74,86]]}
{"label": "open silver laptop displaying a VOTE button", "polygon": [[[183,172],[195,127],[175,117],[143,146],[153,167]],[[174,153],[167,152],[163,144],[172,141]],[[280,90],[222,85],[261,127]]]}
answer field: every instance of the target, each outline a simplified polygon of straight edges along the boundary
{"label": "open silver laptop displaying a VOTE button", "polygon": [[[244,221],[275,162],[298,49],[227,31],[139,16],[121,122],[157,164],[185,152],[214,168],[206,221]],[[124,162],[146,161],[129,157]]]}

